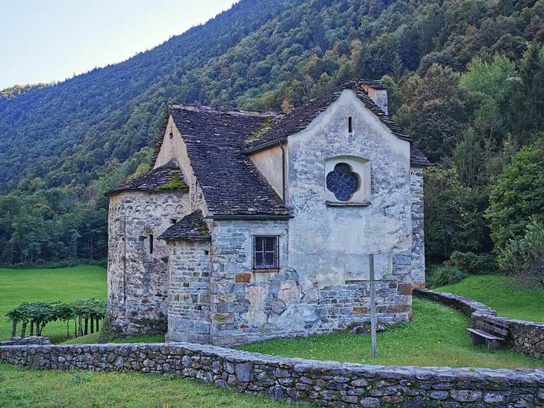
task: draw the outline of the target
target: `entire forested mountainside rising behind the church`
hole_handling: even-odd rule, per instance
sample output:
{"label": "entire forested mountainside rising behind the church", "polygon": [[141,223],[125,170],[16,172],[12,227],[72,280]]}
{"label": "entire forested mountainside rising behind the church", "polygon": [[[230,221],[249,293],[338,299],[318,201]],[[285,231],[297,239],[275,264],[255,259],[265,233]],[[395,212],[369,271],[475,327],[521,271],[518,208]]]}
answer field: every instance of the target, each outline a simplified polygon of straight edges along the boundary
{"label": "entire forested mountainside rising behind the church", "polygon": [[544,152],[543,41],[543,0],[242,0],[126,62],[0,92],[0,261],[106,256],[101,193],[147,170],[167,103],[288,111],[354,78],[385,81],[439,164],[429,261],[504,246],[544,207],[514,208],[505,231],[497,187],[512,166],[526,174],[513,160]]}

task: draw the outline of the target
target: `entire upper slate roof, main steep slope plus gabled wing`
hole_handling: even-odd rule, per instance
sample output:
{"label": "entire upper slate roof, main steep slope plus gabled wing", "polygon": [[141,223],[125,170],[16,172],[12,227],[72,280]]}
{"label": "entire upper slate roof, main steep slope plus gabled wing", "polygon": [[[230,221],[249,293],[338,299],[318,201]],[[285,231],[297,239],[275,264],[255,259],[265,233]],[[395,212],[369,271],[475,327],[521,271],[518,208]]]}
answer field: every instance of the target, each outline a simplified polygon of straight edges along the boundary
{"label": "entire upper slate roof, main steep slope plus gabled wing", "polygon": [[[354,91],[394,135],[412,142],[409,135],[368,97],[361,83],[385,89],[378,81],[351,81],[284,115],[210,106],[169,106],[162,134],[155,145],[153,162],[159,155],[167,118],[171,115],[186,144],[211,215],[288,216],[283,201],[248,154],[305,129],[345,89]],[[414,146],[411,147],[411,162],[417,166],[431,165]]]}

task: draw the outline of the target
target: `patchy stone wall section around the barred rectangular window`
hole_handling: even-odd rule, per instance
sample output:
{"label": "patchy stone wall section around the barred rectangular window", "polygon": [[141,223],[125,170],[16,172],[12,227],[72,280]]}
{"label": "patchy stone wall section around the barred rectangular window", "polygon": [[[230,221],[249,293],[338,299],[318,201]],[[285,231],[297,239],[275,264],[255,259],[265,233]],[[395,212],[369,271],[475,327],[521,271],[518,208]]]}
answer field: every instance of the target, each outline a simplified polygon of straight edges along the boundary
{"label": "patchy stone wall section around the barred rectangular window", "polygon": [[[212,344],[251,341],[305,333],[302,293],[288,271],[287,220],[215,220],[212,225]],[[253,236],[279,237],[279,269],[253,269]]]}

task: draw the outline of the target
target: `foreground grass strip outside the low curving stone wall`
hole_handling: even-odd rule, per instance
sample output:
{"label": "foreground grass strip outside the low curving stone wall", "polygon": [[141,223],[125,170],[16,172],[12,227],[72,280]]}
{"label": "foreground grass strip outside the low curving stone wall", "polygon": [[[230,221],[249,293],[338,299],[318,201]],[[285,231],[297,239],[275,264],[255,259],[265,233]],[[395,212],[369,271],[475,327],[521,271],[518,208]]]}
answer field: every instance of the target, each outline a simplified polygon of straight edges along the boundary
{"label": "foreground grass strip outside the low curving stone wall", "polygon": [[0,365],[0,384],[2,408],[293,407],[174,375],[40,371]]}

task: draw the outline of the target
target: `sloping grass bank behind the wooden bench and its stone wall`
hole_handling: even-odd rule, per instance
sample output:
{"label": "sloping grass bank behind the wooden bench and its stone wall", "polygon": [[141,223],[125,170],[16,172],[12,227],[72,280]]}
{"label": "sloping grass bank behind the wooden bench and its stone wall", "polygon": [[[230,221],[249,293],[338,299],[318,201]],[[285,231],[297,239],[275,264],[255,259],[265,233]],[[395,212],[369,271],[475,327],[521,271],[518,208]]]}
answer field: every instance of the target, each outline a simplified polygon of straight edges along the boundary
{"label": "sloping grass bank behind the wooden bench and its stone wall", "polygon": [[499,316],[544,322],[544,290],[523,288],[509,276],[469,276],[436,290],[472,297],[497,310]]}

